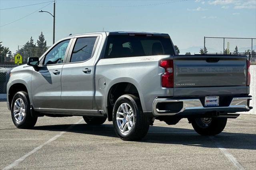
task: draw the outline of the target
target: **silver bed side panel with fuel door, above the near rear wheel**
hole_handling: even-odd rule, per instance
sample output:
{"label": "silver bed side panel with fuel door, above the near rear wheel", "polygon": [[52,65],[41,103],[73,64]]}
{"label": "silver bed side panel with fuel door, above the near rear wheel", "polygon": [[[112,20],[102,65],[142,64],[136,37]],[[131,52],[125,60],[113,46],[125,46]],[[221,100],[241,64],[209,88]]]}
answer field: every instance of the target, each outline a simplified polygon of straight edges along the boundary
{"label": "silver bed side panel with fuel door, above the near rear wheel", "polygon": [[[123,57],[100,59],[96,66],[96,106],[105,110],[108,91],[116,83],[132,83],[138,90],[144,112],[152,111],[152,103],[157,96],[172,96],[173,89],[162,88],[161,75],[164,69],[159,67],[160,59],[172,59],[170,55]],[[99,88],[99,79],[106,80],[106,87]]]}

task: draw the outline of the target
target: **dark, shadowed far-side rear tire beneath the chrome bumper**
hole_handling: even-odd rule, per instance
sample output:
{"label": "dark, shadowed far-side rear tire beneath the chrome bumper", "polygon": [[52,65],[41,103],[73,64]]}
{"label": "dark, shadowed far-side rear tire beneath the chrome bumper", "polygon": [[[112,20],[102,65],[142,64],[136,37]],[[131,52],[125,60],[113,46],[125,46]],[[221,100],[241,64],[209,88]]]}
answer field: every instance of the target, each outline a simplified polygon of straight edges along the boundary
{"label": "dark, shadowed far-side rear tire beneath the chrome bumper", "polygon": [[195,118],[192,120],[192,127],[198,134],[213,136],[222,132],[226,123],[227,118]]}

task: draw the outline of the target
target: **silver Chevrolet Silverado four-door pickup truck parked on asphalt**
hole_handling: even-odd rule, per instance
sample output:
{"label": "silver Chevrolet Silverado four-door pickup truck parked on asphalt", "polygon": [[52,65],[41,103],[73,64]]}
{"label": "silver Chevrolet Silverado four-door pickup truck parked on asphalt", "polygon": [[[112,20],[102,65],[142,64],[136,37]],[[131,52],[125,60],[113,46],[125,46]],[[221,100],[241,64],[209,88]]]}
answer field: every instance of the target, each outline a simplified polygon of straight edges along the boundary
{"label": "silver Chevrolet Silverado four-door pickup truck parked on asphalt", "polygon": [[187,118],[201,135],[252,109],[246,56],[177,55],[168,34],[96,32],[68,36],[40,58],[12,69],[7,105],[18,128],[38,117],[113,121],[123,140],[139,140],[154,120]]}

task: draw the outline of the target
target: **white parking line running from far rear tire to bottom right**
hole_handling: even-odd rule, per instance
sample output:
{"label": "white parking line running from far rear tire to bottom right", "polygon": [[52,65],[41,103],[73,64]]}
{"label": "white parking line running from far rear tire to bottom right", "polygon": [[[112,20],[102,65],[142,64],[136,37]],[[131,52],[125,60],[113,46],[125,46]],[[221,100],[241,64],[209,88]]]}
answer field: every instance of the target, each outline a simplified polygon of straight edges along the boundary
{"label": "white parking line running from far rear tire to bottom right", "polygon": [[228,150],[224,148],[219,142],[215,141],[213,136],[210,136],[209,138],[238,170],[244,170],[244,167],[236,160],[236,158],[230,152],[228,152]]}

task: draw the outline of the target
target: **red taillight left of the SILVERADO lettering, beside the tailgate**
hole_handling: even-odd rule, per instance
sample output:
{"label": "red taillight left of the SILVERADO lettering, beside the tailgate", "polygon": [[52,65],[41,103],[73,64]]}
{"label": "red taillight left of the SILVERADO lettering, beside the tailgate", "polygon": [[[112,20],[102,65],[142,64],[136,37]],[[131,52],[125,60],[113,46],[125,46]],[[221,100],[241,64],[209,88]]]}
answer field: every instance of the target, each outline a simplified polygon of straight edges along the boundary
{"label": "red taillight left of the SILVERADO lettering, beside the tailgate", "polygon": [[162,87],[173,87],[173,60],[160,61],[160,67],[164,68],[164,74],[162,75]]}

